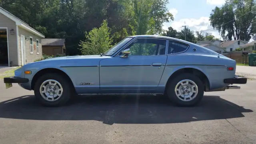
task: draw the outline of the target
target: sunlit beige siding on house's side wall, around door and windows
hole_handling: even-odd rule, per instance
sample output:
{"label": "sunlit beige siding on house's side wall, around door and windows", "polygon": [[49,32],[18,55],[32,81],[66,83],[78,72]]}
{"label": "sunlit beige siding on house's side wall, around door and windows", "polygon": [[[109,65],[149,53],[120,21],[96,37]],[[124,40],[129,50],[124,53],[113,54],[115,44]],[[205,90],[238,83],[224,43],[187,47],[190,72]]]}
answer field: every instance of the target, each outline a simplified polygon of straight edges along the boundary
{"label": "sunlit beige siding on house's side wall, around door and windows", "polygon": [[[20,65],[22,64],[21,61],[21,44],[20,44],[20,36],[25,36],[25,51],[26,51],[26,62],[24,64],[28,64],[30,62],[34,62],[36,59],[42,58],[42,38],[39,36],[36,36],[35,34],[32,34],[31,32],[23,29],[18,28],[18,42],[19,42],[19,54],[20,54]],[[33,38],[33,54],[30,54],[30,36]],[[34,48],[34,45],[36,45],[36,39],[39,41],[39,54],[36,52],[36,48]]]}

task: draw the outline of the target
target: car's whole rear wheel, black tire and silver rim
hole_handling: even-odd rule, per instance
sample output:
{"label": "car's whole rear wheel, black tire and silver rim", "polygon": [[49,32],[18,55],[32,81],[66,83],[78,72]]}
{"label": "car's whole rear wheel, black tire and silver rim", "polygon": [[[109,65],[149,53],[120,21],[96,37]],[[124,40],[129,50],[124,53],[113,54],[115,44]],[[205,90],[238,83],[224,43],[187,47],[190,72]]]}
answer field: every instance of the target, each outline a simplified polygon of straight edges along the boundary
{"label": "car's whole rear wheel, black tire and silver rim", "polygon": [[204,84],[198,76],[180,74],[169,82],[166,94],[178,106],[194,106],[204,96]]}

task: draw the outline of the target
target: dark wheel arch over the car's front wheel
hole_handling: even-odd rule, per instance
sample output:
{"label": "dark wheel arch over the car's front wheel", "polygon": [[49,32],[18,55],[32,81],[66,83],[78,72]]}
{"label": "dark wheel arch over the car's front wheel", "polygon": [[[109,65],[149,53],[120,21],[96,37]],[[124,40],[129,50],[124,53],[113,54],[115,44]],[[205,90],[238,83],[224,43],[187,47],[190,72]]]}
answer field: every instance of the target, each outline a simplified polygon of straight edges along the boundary
{"label": "dark wheel arch over the car's front wheel", "polygon": [[32,81],[31,81],[31,90],[34,90],[34,86],[35,86],[35,83],[38,80],[38,78],[46,73],[61,74],[72,84],[72,86],[74,88],[74,84],[73,84],[72,80],[70,79],[70,77],[68,76],[68,74],[66,74],[66,72],[64,72],[63,70],[60,70],[58,68],[44,68],[44,69],[41,69],[38,72],[36,72],[36,74],[33,76]]}

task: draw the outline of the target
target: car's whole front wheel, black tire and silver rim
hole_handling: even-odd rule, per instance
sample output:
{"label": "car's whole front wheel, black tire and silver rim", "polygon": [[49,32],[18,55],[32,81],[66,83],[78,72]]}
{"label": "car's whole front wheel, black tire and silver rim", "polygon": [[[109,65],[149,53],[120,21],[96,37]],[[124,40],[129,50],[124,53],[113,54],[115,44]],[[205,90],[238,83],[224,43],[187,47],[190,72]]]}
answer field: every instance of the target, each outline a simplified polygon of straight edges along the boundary
{"label": "car's whole front wheel, black tire and silver rim", "polygon": [[72,86],[65,76],[47,73],[36,81],[34,94],[36,99],[45,106],[62,106],[72,96]]}

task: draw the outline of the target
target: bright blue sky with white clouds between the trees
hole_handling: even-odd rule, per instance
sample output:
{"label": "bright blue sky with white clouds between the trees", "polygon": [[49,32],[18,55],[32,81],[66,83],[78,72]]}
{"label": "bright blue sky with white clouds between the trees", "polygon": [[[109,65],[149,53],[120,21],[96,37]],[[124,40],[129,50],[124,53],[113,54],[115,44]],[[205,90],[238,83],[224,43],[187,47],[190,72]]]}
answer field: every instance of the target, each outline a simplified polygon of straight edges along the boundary
{"label": "bright blue sky with white clouds between the trees", "polygon": [[[174,21],[164,23],[163,28],[172,26],[180,31],[181,26],[186,25],[191,30],[207,30],[212,28],[209,22],[209,16],[216,6],[222,6],[225,0],[169,0],[167,5],[169,12],[174,15]],[[216,38],[220,38],[218,31],[207,30]]]}

